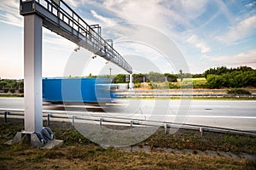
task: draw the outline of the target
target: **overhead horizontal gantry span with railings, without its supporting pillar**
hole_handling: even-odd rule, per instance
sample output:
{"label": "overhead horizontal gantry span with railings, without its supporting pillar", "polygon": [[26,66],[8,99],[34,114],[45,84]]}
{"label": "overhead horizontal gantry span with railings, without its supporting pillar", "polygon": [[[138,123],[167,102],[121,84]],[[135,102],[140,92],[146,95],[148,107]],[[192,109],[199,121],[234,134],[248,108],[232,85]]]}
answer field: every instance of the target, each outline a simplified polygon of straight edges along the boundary
{"label": "overhead horizontal gantry span with railings, without its supporting pillar", "polygon": [[20,14],[38,14],[43,26],[132,73],[131,65],[101,36],[99,25],[89,26],[62,0],[20,0]]}

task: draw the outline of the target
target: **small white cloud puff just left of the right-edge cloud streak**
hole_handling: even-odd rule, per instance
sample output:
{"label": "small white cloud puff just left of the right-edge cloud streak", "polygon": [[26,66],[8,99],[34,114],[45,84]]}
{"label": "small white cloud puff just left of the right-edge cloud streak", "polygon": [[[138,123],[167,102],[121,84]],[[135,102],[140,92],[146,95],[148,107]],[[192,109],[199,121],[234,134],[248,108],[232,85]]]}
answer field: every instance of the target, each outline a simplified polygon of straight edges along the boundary
{"label": "small white cloud puff just left of the right-edge cloud streak", "polygon": [[206,42],[203,42],[199,37],[197,37],[195,34],[193,34],[191,37],[189,37],[186,42],[189,42],[193,45],[195,45],[196,48],[201,49],[201,54],[205,54],[207,52],[211,51],[211,48],[208,47]]}

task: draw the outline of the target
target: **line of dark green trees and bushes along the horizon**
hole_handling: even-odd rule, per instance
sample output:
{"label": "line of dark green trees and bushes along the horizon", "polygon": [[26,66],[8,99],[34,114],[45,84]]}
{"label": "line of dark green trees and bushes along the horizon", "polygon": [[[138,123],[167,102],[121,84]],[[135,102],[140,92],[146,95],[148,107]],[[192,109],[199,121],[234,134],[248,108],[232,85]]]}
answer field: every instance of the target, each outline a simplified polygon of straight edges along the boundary
{"label": "line of dark green trees and bushes along the horizon", "polygon": [[[95,77],[96,76],[92,76],[91,74],[89,76],[89,78]],[[109,77],[109,75],[98,77]],[[183,80],[183,78],[191,77],[205,77],[207,79],[205,84],[201,84],[201,88],[256,88],[256,70],[253,70],[253,68],[248,66],[240,66],[237,68],[221,66],[210,68],[202,74],[183,73],[181,70],[178,74],[150,71],[148,74],[133,74],[132,77],[135,84],[148,82],[149,85],[154,85],[154,82],[168,82],[170,88],[175,87],[176,84],[172,82],[177,82],[178,78]],[[112,75],[111,78],[113,78],[114,83],[129,82],[129,75],[125,74]],[[23,80],[0,79],[0,93],[23,94]]]}

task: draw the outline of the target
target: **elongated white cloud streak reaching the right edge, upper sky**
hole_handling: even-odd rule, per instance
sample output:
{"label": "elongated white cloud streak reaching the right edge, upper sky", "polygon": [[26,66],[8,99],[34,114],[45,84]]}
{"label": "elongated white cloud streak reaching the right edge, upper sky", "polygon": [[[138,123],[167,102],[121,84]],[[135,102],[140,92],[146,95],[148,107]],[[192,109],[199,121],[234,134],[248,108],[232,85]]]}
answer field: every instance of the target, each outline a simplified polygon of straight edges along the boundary
{"label": "elongated white cloud streak reaching the right edge, upper sky", "polygon": [[241,20],[237,26],[231,27],[230,30],[222,36],[216,37],[220,42],[227,44],[241,40],[256,33],[256,15],[251,16],[245,20]]}

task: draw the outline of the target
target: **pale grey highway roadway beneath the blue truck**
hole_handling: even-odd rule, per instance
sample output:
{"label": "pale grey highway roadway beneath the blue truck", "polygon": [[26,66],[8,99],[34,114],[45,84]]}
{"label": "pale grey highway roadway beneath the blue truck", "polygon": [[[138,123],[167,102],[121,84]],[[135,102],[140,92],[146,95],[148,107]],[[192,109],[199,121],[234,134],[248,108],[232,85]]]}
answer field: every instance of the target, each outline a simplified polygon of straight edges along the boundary
{"label": "pale grey highway roadway beneath the blue truck", "polygon": [[[0,108],[23,109],[23,98],[0,98]],[[255,100],[117,100],[113,104],[55,104],[44,111],[137,118],[256,131]]]}

